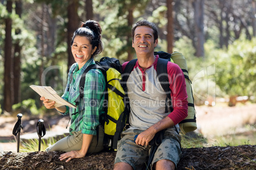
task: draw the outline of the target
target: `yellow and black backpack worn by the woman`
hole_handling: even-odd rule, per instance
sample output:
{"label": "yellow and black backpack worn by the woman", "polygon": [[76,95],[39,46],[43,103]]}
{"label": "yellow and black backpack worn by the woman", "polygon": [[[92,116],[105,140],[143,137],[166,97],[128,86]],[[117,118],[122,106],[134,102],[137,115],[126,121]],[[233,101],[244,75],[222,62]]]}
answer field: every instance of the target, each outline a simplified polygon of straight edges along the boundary
{"label": "yellow and black backpack worn by the woman", "polygon": [[[103,104],[104,114],[100,117],[99,122],[104,126],[104,146],[108,150],[117,148],[117,141],[120,139],[120,133],[125,128],[127,120],[127,112],[124,106],[124,89],[120,81],[122,79],[122,65],[117,58],[109,58],[107,56],[101,58],[94,65],[89,65],[83,72],[79,86],[82,89],[85,86],[85,74],[90,69],[99,69],[103,72],[106,81],[106,93]],[[72,77],[72,76],[71,76]],[[80,91],[80,96],[83,97],[83,91]],[[98,134],[98,132],[97,132]],[[109,144],[111,143],[111,147]]]}

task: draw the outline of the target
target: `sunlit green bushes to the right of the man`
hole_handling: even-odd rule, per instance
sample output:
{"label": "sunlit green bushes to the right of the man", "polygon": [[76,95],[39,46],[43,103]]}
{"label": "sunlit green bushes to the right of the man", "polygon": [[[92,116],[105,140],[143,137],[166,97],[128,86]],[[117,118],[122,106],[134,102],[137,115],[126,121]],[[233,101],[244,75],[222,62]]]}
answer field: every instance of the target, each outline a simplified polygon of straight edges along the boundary
{"label": "sunlit green bushes to the right of the man", "polygon": [[241,37],[227,50],[218,49],[213,41],[204,44],[204,58],[194,54],[192,42],[183,37],[175,42],[174,51],[187,59],[188,72],[196,105],[204,104],[210,96],[256,95],[256,39]]}

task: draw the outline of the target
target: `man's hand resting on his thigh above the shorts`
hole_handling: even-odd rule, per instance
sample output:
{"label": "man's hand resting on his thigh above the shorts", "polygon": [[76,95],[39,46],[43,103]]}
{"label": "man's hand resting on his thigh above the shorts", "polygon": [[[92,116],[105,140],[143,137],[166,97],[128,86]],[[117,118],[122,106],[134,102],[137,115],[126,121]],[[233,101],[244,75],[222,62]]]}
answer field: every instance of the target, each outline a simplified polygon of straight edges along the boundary
{"label": "man's hand resting on his thigh above the shorts", "polygon": [[140,133],[135,141],[137,145],[148,145],[148,143],[153,139],[155,136],[155,132],[152,131],[150,128],[146,129],[146,131],[143,131]]}

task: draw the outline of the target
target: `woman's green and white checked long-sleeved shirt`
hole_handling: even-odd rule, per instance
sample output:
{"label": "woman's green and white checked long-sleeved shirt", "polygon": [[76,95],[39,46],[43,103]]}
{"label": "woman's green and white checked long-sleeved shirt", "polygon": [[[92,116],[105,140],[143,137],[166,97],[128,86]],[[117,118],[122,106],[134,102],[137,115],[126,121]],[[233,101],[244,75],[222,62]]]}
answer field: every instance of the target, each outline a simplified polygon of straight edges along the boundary
{"label": "woman's green and white checked long-sleeved shirt", "polygon": [[[68,74],[68,84],[62,95],[64,100],[76,105],[76,98],[79,96],[79,82],[83,71],[89,66],[95,64],[94,60],[90,60],[78,70],[78,63],[74,63]],[[70,83],[71,72],[73,72],[73,81]],[[63,115],[69,114],[71,117],[71,125],[69,133],[73,131],[82,131],[83,134],[96,135],[96,127],[99,125],[99,115],[103,114],[104,89],[106,82],[101,70],[91,69],[85,77],[85,86],[83,89],[83,98],[78,101],[77,108],[66,107]],[[69,91],[68,91],[69,88]]]}

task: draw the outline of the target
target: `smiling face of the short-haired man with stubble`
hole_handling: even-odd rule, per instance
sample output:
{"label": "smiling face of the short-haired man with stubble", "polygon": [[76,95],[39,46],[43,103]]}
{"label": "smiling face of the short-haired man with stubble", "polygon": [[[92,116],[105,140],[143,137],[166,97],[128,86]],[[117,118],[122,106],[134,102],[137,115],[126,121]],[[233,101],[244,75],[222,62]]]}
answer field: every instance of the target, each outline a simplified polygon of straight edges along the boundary
{"label": "smiling face of the short-haired man with stubble", "polygon": [[158,39],[154,42],[153,30],[147,26],[139,26],[134,30],[132,47],[137,55],[152,54],[157,46]]}

